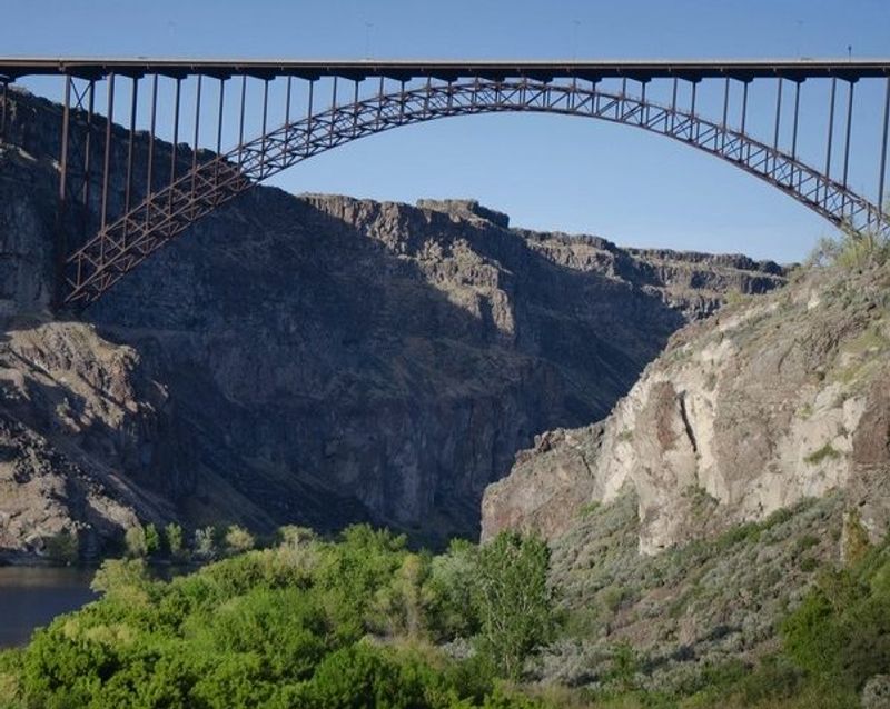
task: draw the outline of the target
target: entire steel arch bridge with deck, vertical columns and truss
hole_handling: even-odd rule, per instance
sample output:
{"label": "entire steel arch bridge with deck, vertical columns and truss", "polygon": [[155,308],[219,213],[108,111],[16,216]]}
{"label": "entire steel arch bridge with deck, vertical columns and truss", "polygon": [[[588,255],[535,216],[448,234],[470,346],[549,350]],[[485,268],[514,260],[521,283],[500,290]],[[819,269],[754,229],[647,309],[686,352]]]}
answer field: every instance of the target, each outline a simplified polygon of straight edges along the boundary
{"label": "entire steel arch bridge with deck, vertical columns and truss", "polygon": [[365,136],[453,116],[524,111],[633,126],[721,158],[840,228],[890,237],[890,60],[0,58],[0,141],[17,110],[12,84],[47,77],[58,78],[62,104],[59,212],[92,216],[60,260],[59,303],[77,308],[270,176]]}

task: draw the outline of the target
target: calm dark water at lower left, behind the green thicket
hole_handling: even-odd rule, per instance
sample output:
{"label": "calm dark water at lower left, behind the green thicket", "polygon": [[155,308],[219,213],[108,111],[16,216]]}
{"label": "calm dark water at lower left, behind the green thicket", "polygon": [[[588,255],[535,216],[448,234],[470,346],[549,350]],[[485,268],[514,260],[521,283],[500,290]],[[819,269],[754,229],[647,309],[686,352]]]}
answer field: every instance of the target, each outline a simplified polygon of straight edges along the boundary
{"label": "calm dark water at lower left, behind the green thicket", "polygon": [[0,648],[23,645],[59,613],[96,598],[95,569],[0,567]]}

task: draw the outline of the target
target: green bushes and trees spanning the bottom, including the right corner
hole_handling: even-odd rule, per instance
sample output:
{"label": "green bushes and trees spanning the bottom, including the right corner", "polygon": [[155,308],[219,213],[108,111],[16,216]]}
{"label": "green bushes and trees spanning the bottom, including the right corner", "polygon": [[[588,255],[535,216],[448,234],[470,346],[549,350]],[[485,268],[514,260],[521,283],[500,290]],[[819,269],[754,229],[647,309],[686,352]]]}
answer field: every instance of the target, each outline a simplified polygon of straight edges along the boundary
{"label": "green bushes and trees spanning the bottom, including the right corner", "polygon": [[[715,553],[791,515],[726,531]],[[0,707],[858,707],[866,683],[890,670],[890,542],[853,533],[856,516],[844,525],[848,565],[820,567],[774,652],[691,662],[670,687],[643,679],[651,658],[626,640],[591,660],[585,688],[518,683],[543,646],[578,632],[561,631],[541,539],[502,533],[432,556],[358,526],[337,541],[286,528],[275,548],[170,582],[141,558],[107,561],[92,583],[101,600],[0,652]]]}

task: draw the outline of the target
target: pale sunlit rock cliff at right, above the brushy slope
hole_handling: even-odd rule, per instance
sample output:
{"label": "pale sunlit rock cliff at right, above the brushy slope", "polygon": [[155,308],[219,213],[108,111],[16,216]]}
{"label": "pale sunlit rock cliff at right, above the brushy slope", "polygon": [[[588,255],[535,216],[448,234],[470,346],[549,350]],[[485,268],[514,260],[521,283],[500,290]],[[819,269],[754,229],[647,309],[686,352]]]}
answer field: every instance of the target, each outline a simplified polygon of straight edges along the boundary
{"label": "pale sunlit rock cliff at right, above the brushy slope", "polygon": [[551,538],[572,510],[639,499],[654,553],[842,490],[873,537],[890,521],[890,269],[814,268],[676,333],[604,422],[522,453],[483,502],[483,537]]}

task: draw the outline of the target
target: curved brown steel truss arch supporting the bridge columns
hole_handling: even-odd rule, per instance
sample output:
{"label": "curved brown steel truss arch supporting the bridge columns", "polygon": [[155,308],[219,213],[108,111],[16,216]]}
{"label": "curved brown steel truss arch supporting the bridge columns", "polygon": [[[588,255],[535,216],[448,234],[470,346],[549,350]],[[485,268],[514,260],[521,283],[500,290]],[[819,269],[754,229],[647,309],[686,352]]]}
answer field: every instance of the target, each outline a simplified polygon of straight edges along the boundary
{"label": "curved brown steel truss arch supporting the bridge columns", "polygon": [[577,82],[472,79],[436,83],[334,106],[286,122],[196,166],[149,194],[75,251],[67,261],[66,302],[97,300],[191,223],[268,177],[359,138],[439,118],[494,112],[583,116],[632,126],[734,164],[793,197],[835,226],[890,236],[878,207],[812,166],[724,122],[644,96]]}

